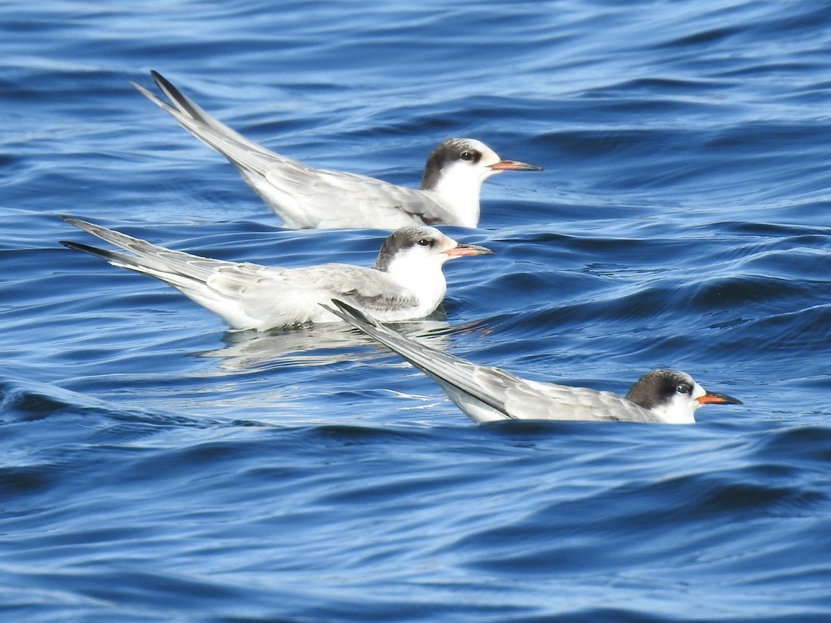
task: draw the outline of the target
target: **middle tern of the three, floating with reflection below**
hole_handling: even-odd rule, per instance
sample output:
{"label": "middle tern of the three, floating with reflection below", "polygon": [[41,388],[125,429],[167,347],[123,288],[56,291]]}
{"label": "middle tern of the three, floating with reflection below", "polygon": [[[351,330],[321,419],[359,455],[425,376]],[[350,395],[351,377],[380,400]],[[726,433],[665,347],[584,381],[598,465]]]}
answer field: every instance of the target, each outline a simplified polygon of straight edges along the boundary
{"label": "middle tern of the three, floating with reflection below", "polygon": [[78,218],[61,218],[130,254],[61,241],[65,247],[160,279],[234,329],[258,331],[339,321],[320,305],[333,297],[371,310],[387,322],[429,316],[447,291],[441,272],[447,260],[494,253],[474,244],[457,243],[438,229],[421,225],[391,233],[371,268],[336,263],[267,267],[200,258]]}

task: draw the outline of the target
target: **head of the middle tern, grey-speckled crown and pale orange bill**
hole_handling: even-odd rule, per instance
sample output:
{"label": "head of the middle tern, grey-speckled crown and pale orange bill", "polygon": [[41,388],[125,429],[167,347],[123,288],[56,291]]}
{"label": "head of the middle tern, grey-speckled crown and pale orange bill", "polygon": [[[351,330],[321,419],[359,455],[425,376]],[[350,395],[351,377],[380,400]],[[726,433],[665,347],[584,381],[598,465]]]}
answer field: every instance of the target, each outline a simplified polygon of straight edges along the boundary
{"label": "head of the middle tern, grey-speckled crown and pale orange bill", "polygon": [[413,225],[396,229],[386,238],[374,268],[392,273],[417,273],[431,266],[440,269],[449,259],[488,253],[494,252],[475,244],[457,243],[436,228]]}

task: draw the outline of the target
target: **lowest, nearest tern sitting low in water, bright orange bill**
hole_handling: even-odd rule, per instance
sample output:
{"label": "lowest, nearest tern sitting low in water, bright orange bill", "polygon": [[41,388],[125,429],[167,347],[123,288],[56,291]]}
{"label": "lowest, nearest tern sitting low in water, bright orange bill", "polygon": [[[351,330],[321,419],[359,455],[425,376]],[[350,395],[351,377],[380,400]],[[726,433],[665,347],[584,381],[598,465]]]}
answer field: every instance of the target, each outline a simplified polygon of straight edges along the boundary
{"label": "lowest, nearest tern sitting low in water, bright orange bill", "polygon": [[422,346],[381,325],[366,312],[342,301],[332,303],[338,308],[327,307],[332,313],[430,376],[475,422],[569,419],[694,424],[696,409],[702,405],[741,404],[728,395],[704,390],[679,370],[647,372],[626,397],[611,391],[521,379],[505,370],[476,365]]}

